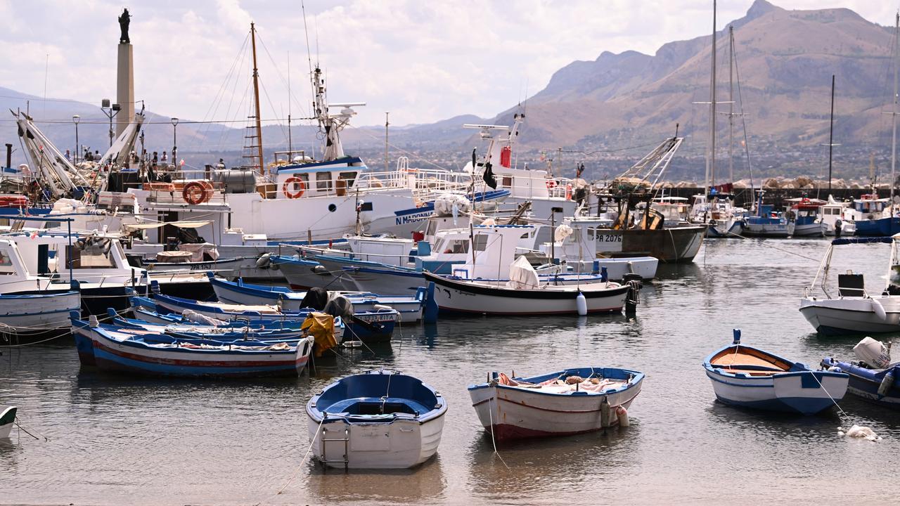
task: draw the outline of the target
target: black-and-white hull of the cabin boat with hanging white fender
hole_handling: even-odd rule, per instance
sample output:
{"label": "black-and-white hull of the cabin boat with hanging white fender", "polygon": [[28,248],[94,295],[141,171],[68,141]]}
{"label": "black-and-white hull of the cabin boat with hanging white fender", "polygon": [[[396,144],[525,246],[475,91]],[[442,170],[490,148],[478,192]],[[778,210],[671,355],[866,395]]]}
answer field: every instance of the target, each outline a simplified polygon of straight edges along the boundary
{"label": "black-and-white hull of the cabin boat with hanging white fender", "polygon": [[[576,314],[578,289],[512,290],[499,286],[425,274],[435,283],[435,302],[444,312],[478,314]],[[606,284],[581,285],[589,313],[616,313],[625,306],[628,285],[602,288]],[[563,288],[563,287],[559,287]],[[565,288],[575,288],[568,286]]]}

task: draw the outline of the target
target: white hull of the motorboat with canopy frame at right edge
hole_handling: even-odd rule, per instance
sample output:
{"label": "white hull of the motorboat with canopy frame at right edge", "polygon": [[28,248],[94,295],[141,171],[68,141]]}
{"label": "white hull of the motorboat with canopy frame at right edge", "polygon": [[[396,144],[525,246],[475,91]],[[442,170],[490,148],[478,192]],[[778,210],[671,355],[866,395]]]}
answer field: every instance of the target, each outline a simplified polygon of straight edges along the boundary
{"label": "white hull of the motorboat with canopy frame at right edge", "polygon": [[[884,320],[878,317],[873,301],[878,301],[884,307]],[[805,297],[800,301],[800,312],[817,332],[824,335],[900,331],[900,296],[841,299]]]}

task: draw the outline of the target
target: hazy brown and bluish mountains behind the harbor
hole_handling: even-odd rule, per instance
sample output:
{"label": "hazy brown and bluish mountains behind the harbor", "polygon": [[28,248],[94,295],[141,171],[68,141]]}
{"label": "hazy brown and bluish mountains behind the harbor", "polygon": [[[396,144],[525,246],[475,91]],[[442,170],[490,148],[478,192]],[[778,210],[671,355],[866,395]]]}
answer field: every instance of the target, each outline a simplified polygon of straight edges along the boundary
{"label": "hazy brown and bluish mountains behind the harbor", "polygon": [[[833,74],[837,85],[834,142],[842,144],[835,149],[836,174],[867,173],[869,153],[875,154],[880,167],[886,165],[890,116],[883,113],[890,111],[893,86],[893,27],[870,23],[848,9],[788,11],[765,0],[757,0],[743,18],[725,23],[718,23],[724,27],[717,37],[718,100],[727,101],[729,96],[731,25],[738,71],[734,110],[743,109],[745,113],[749,149],[759,171],[769,169],[769,175],[774,175],[773,171],[816,175],[823,164],[827,165],[827,149],[821,144],[828,141]],[[652,56],[636,51],[614,54],[598,50],[598,59],[574,61],[559,69],[545,89],[527,100],[527,120],[520,135],[523,153],[530,152],[536,158],[537,151],[553,151],[557,147],[594,152],[573,157],[595,160],[599,166],[609,167],[599,170],[616,172],[613,166],[624,169],[628,160],[649,150],[644,145],[671,136],[679,124],[680,135],[685,135],[687,141],[680,159],[674,163],[675,169],[691,177],[702,175],[702,166],[698,169],[697,163],[707,149],[709,108],[693,103],[709,100],[711,37],[673,41]],[[0,104],[23,107],[25,99],[19,95],[13,90],[0,90]],[[42,110],[45,104],[46,112]],[[719,104],[720,113],[728,108],[728,104]],[[462,128],[464,122],[511,124],[512,114],[522,110],[517,105],[491,119],[463,115],[432,124],[392,127],[392,145],[417,153],[445,151],[449,157],[466,158],[478,142],[473,131]],[[36,119],[44,114],[47,119],[65,119],[80,113],[83,118],[106,121],[97,107],[71,102],[32,102],[31,113]],[[161,124],[148,125],[148,147],[170,148],[172,127],[167,124],[168,118],[152,116],[150,120]],[[727,120],[725,115],[717,120],[720,159],[727,152]],[[45,130],[51,139],[59,139],[59,145],[74,146],[71,124],[48,124]],[[311,149],[317,142],[315,130],[310,126],[294,127],[295,149]],[[98,146],[102,151],[108,144],[105,132],[102,125],[83,125],[82,143]],[[4,141],[14,141],[13,135],[14,131],[8,131]],[[243,136],[242,128],[186,123],[178,126],[183,154],[231,151],[234,156]],[[743,139],[739,116],[735,117],[735,136]],[[286,145],[285,127],[266,126],[264,139],[266,149],[282,149]],[[344,140],[347,152],[374,156],[383,149],[383,126],[349,129]],[[642,148],[622,150],[634,146]],[[740,144],[737,149],[742,149]],[[373,160],[370,165],[376,163]]]}

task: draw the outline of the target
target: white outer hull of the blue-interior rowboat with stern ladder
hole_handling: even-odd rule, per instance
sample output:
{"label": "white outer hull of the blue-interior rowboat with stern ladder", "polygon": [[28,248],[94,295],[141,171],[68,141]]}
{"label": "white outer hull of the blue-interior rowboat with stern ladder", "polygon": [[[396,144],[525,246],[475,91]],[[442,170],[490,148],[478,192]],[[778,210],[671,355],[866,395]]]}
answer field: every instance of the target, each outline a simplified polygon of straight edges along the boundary
{"label": "white outer hull of the blue-interior rowboat with stern ladder", "polygon": [[403,469],[422,464],[437,452],[444,430],[443,414],[425,423],[402,419],[347,423],[332,418],[321,427],[307,418],[313,455],[329,467],[350,469]]}

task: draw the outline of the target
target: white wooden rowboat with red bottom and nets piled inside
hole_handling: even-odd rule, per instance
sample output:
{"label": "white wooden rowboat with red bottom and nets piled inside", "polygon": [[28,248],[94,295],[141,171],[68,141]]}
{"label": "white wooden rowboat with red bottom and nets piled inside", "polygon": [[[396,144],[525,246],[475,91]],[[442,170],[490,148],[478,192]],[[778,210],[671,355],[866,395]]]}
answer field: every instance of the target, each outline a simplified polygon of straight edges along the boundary
{"label": "white wooden rowboat with red bottom and nets piled inside", "polygon": [[499,441],[567,436],[626,425],[627,409],[641,393],[644,373],[613,367],[581,367],[509,378],[492,373],[469,387],[484,429]]}

